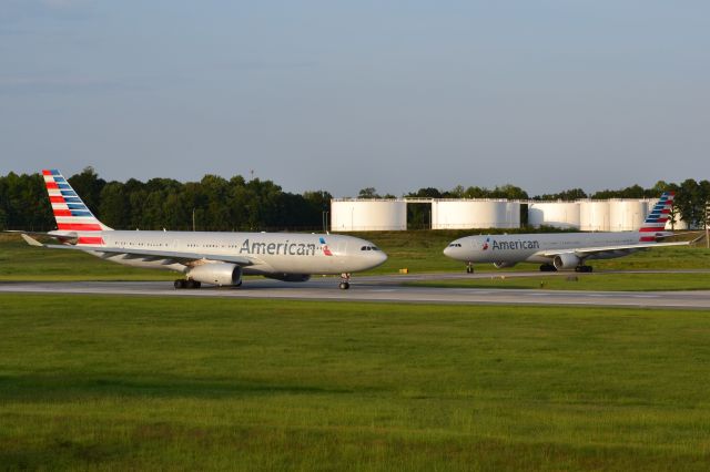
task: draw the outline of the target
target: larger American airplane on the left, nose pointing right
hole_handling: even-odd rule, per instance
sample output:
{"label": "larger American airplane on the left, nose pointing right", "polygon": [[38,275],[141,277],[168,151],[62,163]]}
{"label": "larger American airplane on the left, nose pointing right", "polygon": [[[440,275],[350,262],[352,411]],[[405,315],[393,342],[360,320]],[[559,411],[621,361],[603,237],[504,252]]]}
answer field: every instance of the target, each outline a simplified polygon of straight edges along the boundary
{"label": "larger American airplane on the left, nose pointing right", "polygon": [[[18,232],[31,246],[74,249],[105,260],[142,268],[175,270],[184,278],[175,289],[202,284],[239,287],[244,275],[306,281],[311,275],[341,275],[348,289],[351,274],[377,267],[387,255],[353,236],[297,233],[210,233],[114,230],[101,223],[57,170],[42,171],[57,230]],[[60,244],[42,244],[44,235]]]}

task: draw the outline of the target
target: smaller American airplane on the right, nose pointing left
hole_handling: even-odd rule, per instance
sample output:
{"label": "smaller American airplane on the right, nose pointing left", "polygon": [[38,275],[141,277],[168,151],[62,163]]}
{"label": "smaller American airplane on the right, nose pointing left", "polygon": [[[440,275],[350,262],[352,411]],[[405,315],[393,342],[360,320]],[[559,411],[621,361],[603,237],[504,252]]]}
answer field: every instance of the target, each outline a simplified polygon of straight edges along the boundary
{"label": "smaller American airplane on the right, nose pointing left", "polygon": [[590,273],[591,266],[585,264],[588,259],[612,259],[650,247],[689,245],[691,242],[661,243],[673,236],[663,230],[673,196],[672,192],[663,193],[638,232],[467,236],[452,242],[444,254],[467,263],[469,273],[474,263],[493,263],[497,268],[540,263],[542,271]]}

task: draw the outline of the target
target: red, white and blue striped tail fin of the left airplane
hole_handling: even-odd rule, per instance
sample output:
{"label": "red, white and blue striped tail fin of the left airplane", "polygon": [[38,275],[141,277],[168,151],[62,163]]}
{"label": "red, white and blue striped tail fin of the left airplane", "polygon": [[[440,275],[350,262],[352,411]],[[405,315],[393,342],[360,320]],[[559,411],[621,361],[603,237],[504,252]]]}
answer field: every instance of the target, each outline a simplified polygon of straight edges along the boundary
{"label": "red, white and blue striped tail fin of the left airplane", "polygon": [[[69,182],[57,170],[42,171],[49,201],[52,204],[57,229],[62,232],[94,233],[111,230],[91,213]],[[99,238],[80,236],[79,243],[100,244]]]}

